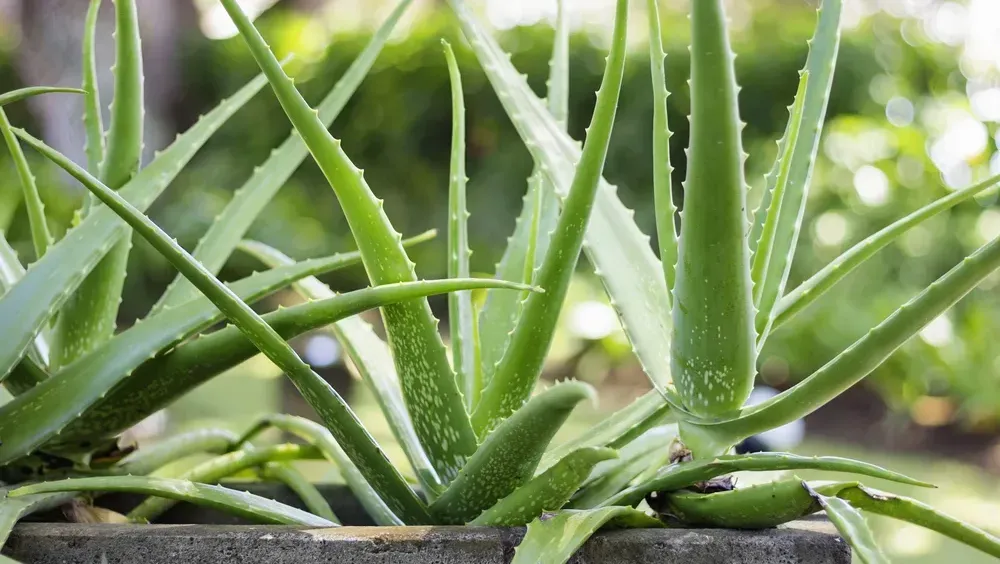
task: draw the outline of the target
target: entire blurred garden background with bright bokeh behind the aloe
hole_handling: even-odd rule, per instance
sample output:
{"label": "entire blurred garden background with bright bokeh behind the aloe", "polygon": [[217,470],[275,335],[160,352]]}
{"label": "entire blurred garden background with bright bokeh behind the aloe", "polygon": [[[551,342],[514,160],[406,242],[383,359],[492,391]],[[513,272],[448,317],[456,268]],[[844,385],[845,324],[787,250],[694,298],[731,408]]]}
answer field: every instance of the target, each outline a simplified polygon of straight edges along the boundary
{"label": "entire blurred garden background with bright bokeh behind the aloe", "polygon": [[[687,0],[690,1],[690,0]],[[666,10],[672,159],[679,196],[689,106],[686,0]],[[530,83],[544,93],[554,0],[470,0],[497,29]],[[297,79],[309,100],[340,77],[394,5],[385,0],[242,0],[279,56],[299,55]],[[732,0],[741,112],[747,122],[748,179],[758,197],[776,152],[815,22],[816,0]],[[102,10],[98,57],[113,62],[113,13]],[[572,37],[570,132],[582,138],[600,81],[611,0],[568,0]],[[1000,174],[1000,2],[997,0],[847,0],[844,40],[827,126],[809,194],[793,287],[866,235],[951,190]],[[605,177],[653,233],[649,65],[644,2],[636,12],[622,104]],[[0,90],[28,84],[76,85],[84,0],[0,0]],[[145,56],[148,158],[256,66],[215,0],[140,0]],[[488,275],[503,251],[531,170],[527,151],[474,57],[464,49],[445,3],[417,0],[357,94],[334,123],[364,168],[397,229],[445,227],[450,138],[448,78],[439,40],[459,48],[469,114],[472,267]],[[105,100],[110,72],[102,76]],[[9,111],[83,161],[82,107],[72,97],[40,97]],[[289,133],[266,93],[230,121],[151,209],[151,216],[192,248],[232,191]],[[63,231],[82,190],[35,155],[34,170],[53,228]],[[13,164],[0,155],[0,229],[32,260],[27,219]],[[761,383],[783,389],[807,376],[964,255],[1000,235],[1000,205],[985,196],[911,230],[876,260],[769,339]],[[312,257],[353,247],[343,216],[318,168],[307,161],[256,222],[251,237],[288,254]],[[445,274],[443,238],[415,248],[419,273]],[[252,261],[234,256],[225,278]],[[598,385],[601,405],[626,404],[648,388],[590,267],[581,261],[548,378],[575,376]],[[121,323],[141,317],[174,272],[136,241]],[[366,283],[360,269],[327,281]],[[991,277],[855,389],[806,420],[800,452],[847,454],[942,486],[919,494],[945,511],[1000,531],[1000,276]],[[274,302],[293,299],[279,296]],[[445,301],[432,302],[446,317]],[[323,335],[296,345],[351,396],[376,434],[391,441],[364,390],[340,365]],[[260,411],[304,409],[266,360],[255,359],[193,392],[172,409],[169,428],[221,419],[239,426]],[[228,400],[228,401],[227,401]],[[583,423],[581,423],[583,424]],[[900,562],[975,562],[932,533],[879,519],[886,551]]]}

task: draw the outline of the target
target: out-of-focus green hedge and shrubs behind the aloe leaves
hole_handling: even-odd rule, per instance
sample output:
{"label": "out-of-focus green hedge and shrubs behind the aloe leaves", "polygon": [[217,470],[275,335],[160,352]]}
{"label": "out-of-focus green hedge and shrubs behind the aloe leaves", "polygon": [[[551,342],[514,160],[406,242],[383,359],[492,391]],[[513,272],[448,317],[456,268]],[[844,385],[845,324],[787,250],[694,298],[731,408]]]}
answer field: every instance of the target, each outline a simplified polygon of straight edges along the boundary
{"label": "out-of-focus green hedge and shrubs behind the aloe leaves", "polygon": [[[813,24],[812,12],[801,6],[793,9],[778,3],[767,10],[758,12],[735,37],[743,88],[741,113],[747,122],[744,143],[751,155],[748,178],[754,188],[762,184],[774,157],[774,140],[784,129],[786,106],[806,56],[804,39]],[[670,122],[675,132],[672,159],[677,167],[674,189],[680,198],[688,134],[686,20],[666,21],[668,86],[673,92]],[[279,51],[295,48],[303,29],[301,16],[280,9],[260,23]],[[922,39],[919,28],[906,29],[911,24],[877,16],[844,38],[789,289],[867,234],[949,189],[940,163],[930,155],[935,140],[955,120],[963,116],[974,120],[967,81],[957,51]],[[369,183],[385,199],[389,217],[404,234],[445,225],[450,109],[442,36],[462,45],[448,17],[431,15],[405,39],[387,46],[332,128],[355,163],[366,170]],[[332,87],[366,39],[363,33],[338,34],[323,57],[300,70],[299,86],[307,99],[317,101]],[[539,92],[544,91],[551,39],[544,26],[517,28],[503,36],[515,64]],[[652,234],[649,65],[642,46],[636,47],[605,177],[620,187],[623,201],[636,209],[639,225]],[[578,139],[592,110],[603,56],[599,37],[574,36],[569,128]],[[173,110],[180,130],[256,72],[238,40],[209,41],[191,34],[181,58],[184,87]],[[472,267],[491,273],[513,228],[531,162],[472,55],[460,48],[459,62],[469,108]],[[0,61],[0,87],[15,85],[15,73]],[[24,112],[12,109],[11,119],[26,123],[30,116]],[[949,172],[951,188],[984,178],[991,157],[1000,165],[993,140],[998,135],[996,123],[975,123],[982,131],[973,133],[987,136],[988,142],[978,154],[963,156],[961,167]],[[151,215],[182,244],[193,247],[232,191],[289,131],[273,97],[258,96],[201,151]],[[60,177],[38,159],[34,163],[54,223],[68,225],[81,193],[62,186]],[[23,256],[30,256],[26,221],[14,211],[18,191],[12,188],[9,160],[0,161],[0,178],[0,228],[9,225]],[[1000,213],[992,206],[992,199],[959,206],[882,251],[876,261],[769,339],[761,356],[764,380],[780,387],[808,375],[961,256],[1000,233]],[[336,199],[311,161],[295,174],[250,236],[295,257],[353,246]],[[123,315],[131,318],[143,314],[173,276],[169,265],[144,243],[137,241],[136,247],[123,309]],[[413,258],[422,276],[445,273],[442,240],[414,249]],[[234,257],[223,275],[239,275],[248,264]],[[935,322],[922,338],[913,339],[868,385],[876,387],[894,409],[914,410],[918,420],[935,424],[958,420],[980,427],[1000,423],[1000,356],[991,338],[1000,329],[996,280],[976,290],[947,320]],[[352,271],[331,283],[356,287],[365,283],[364,273]],[[945,398],[934,404],[937,419],[918,413],[927,396]]]}

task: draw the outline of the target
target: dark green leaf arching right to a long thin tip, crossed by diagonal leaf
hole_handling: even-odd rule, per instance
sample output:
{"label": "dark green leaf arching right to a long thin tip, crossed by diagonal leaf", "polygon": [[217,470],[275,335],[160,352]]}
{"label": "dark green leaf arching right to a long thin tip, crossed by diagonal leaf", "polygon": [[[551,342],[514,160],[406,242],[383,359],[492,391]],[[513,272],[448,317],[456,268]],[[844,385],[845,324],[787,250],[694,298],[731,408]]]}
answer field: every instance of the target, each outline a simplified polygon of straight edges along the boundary
{"label": "dark green leaf arching right to a long thin tip, crossed by diagonal leaf", "polygon": [[[288,339],[385,304],[455,290],[505,285],[515,290],[525,288],[512,282],[487,279],[383,284],[280,309],[265,315],[264,320],[281,338]],[[160,315],[167,315],[172,311],[174,310]],[[257,353],[258,346],[238,327],[227,327],[184,343],[163,356],[142,363],[135,372],[95,403],[93,408],[71,421],[60,433],[59,439],[80,440],[118,433]],[[0,445],[0,453],[3,448]]]}

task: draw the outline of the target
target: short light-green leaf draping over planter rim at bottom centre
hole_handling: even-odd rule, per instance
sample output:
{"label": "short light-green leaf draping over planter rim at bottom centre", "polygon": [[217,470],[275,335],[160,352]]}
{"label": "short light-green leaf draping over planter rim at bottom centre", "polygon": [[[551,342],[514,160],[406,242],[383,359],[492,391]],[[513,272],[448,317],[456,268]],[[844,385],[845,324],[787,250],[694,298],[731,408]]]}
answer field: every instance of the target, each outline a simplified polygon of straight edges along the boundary
{"label": "short light-green leaf draping over planter rim at bottom centre", "polygon": [[605,525],[656,528],[663,524],[631,507],[603,507],[587,511],[563,510],[528,523],[524,540],[514,550],[511,564],[564,564],[587,539]]}

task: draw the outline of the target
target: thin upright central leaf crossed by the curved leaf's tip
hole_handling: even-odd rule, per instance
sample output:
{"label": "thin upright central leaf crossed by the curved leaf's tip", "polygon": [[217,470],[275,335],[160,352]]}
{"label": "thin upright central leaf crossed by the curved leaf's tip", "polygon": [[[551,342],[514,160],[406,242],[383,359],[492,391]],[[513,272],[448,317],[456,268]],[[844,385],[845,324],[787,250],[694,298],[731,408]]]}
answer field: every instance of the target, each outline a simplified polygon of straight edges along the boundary
{"label": "thin upright central leaf crossed by the curved leaf's tip", "polygon": [[[448,63],[451,82],[451,168],[448,182],[448,278],[469,277],[469,212],[465,203],[465,97],[462,93],[462,75],[458,70],[455,52],[447,41],[441,40]],[[530,283],[530,282],[529,282]],[[482,386],[482,373],[476,358],[476,343],[472,335],[471,292],[448,294],[448,325],[451,330],[452,365],[458,389],[465,396],[466,407],[471,410]]]}

